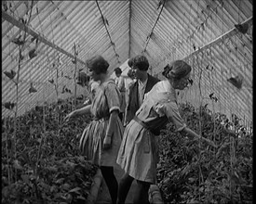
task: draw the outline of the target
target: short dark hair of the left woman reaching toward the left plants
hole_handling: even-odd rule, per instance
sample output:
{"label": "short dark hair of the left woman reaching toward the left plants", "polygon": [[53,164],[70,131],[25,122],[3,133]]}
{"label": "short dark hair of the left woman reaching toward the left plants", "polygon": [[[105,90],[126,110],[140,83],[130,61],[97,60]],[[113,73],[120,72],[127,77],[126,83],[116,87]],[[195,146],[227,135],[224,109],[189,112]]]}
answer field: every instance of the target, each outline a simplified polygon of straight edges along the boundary
{"label": "short dark hair of the left woman reaching toward the left plants", "polygon": [[109,63],[101,56],[88,58],[86,61],[89,70],[94,70],[96,74],[106,73]]}

